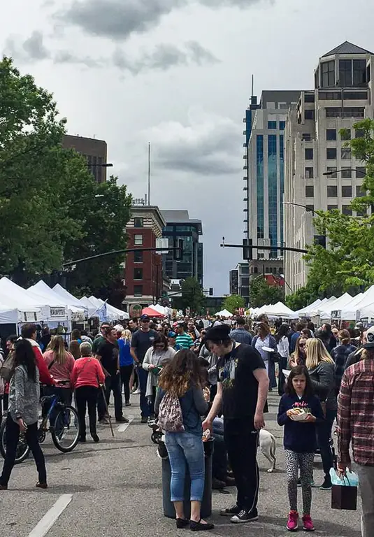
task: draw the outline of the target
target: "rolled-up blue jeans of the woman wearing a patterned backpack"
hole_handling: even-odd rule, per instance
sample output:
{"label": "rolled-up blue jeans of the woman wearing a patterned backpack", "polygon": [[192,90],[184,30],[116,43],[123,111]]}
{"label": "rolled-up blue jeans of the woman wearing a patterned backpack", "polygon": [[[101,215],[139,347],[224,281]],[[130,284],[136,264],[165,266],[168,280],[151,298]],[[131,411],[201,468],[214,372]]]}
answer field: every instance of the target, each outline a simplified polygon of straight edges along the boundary
{"label": "rolled-up blue jeans of the woman wearing a patterned backpack", "polygon": [[171,466],[171,501],[184,501],[186,461],[191,478],[191,501],[201,501],[204,493],[205,460],[203,441],[192,433],[166,433],[165,445]]}

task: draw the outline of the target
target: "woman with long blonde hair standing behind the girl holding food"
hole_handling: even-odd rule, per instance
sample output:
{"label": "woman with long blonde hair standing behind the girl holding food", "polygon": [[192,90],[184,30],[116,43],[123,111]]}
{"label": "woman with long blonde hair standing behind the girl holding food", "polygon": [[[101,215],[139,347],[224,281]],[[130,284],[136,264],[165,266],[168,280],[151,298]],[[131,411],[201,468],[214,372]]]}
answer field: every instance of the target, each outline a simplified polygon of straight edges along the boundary
{"label": "woman with long blonde hair standing behind the girl holding food", "polygon": [[310,380],[316,396],[324,410],[324,420],[317,424],[317,443],[321,452],[324,468],[324,482],[319,489],[331,490],[330,468],[333,467],[331,450],[331,429],[338,408],[335,394],[335,365],[326,347],[318,338],[310,338],[306,342],[305,366],[309,371]]}

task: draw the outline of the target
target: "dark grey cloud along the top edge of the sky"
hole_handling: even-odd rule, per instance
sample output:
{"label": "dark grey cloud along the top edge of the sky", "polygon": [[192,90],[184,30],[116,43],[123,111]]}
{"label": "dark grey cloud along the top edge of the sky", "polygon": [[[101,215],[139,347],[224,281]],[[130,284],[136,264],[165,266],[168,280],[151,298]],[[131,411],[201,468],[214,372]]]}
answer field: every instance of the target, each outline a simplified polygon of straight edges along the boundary
{"label": "dark grey cloud along the top edge of the sky", "polygon": [[[274,0],[197,0],[209,8],[236,6],[250,8]],[[194,0],[74,0],[55,17],[82,28],[87,34],[124,41],[156,27],[161,17],[194,3]]]}

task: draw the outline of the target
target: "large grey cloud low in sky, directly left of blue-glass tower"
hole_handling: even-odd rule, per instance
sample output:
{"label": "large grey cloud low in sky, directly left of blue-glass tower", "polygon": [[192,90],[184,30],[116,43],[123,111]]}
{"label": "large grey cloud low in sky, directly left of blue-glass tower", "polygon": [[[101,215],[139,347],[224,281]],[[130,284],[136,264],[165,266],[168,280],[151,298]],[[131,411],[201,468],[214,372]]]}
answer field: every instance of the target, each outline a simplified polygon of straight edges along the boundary
{"label": "large grey cloud low in sky, directly left of blue-glass tower", "polygon": [[145,136],[155,142],[157,168],[199,176],[240,173],[241,133],[227,117],[197,110],[189,124],[164,122]]}

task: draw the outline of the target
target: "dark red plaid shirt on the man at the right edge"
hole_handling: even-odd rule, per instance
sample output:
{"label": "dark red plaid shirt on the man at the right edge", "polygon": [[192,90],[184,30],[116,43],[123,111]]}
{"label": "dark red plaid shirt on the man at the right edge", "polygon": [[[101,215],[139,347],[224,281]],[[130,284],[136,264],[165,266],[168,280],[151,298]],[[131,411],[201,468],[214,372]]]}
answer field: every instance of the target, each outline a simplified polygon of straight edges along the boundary
{"label": "dark red plaid shirt on the man at the right edge", "polygon": [[374,466],[374,360],[367,358],[343,374],[338,397],[339,462]]}

